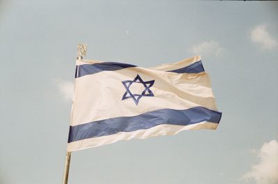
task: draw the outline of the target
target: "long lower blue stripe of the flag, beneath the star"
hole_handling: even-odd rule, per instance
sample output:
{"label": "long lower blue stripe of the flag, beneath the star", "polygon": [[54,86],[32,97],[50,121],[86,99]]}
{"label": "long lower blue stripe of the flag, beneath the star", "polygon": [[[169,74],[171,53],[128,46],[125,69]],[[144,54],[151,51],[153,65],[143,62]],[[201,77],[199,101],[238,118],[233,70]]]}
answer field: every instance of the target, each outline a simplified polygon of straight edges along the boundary
{"label": "long lower blue stripe of the flag, beneath the star", "polygon": [[112,135],[119,132],[131,132],[148,129],[160,124],[186,126],[199,122],[218,124],[222,113],[204,107],[186,110],[161,109],[145,112],[133,117],[114,117],[87,124],[70,126],[68,143],[92,137]]}

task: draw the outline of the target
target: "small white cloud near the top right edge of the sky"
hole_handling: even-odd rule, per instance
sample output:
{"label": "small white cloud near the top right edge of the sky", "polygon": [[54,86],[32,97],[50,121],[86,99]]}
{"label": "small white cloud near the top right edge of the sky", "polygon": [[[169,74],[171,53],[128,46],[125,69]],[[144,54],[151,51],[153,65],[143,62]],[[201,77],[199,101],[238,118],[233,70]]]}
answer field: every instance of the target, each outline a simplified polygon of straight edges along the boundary
{"label": "small white cloud near the top right edge of the sky", "polygon": [[275,40],[269,33],[266,31],[265,25],[256,26],[250,33],[252,42],[261,44],[263,49],[273,49],[277,46],[277,40]]}

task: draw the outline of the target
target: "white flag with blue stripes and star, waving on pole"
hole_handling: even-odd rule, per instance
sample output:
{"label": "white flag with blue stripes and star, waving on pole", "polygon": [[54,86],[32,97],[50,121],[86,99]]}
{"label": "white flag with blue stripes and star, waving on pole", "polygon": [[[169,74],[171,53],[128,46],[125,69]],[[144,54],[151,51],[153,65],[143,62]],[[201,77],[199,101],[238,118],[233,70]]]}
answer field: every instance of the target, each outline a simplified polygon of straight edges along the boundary
{"label": "white flag with blue stripes and star, waving on pole", "polygon": [[150,68],[76,60],[67,151],[215,129],[221,115],[200,56]]}

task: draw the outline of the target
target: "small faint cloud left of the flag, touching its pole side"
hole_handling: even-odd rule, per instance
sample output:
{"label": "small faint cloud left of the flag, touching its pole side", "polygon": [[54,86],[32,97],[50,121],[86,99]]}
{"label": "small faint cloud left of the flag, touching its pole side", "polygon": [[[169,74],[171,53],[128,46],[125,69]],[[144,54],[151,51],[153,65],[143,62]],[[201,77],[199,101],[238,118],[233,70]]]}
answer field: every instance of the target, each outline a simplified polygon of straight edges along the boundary
{"label": "small faint cloud left of the flag, touching its pole side", "polygon": [[72,81],[63,81],[62,79],[57,79],[56,85],[60,95],[63,96],[65,101],[72,101],[72,97],[74,96],[74,83]]}

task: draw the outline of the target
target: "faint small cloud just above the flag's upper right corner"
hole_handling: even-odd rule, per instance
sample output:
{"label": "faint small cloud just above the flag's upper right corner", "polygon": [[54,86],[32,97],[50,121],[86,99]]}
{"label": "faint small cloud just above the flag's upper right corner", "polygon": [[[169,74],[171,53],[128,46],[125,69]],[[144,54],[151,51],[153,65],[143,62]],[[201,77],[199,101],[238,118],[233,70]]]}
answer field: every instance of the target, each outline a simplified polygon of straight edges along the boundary
{"label": "faint small cloud just above the flag's upper right corner", "polygon": [[218,56],[222,52],[222,47],[215,40],[202,42],[194,45],[190,51],[196,55],[215,55]]}

